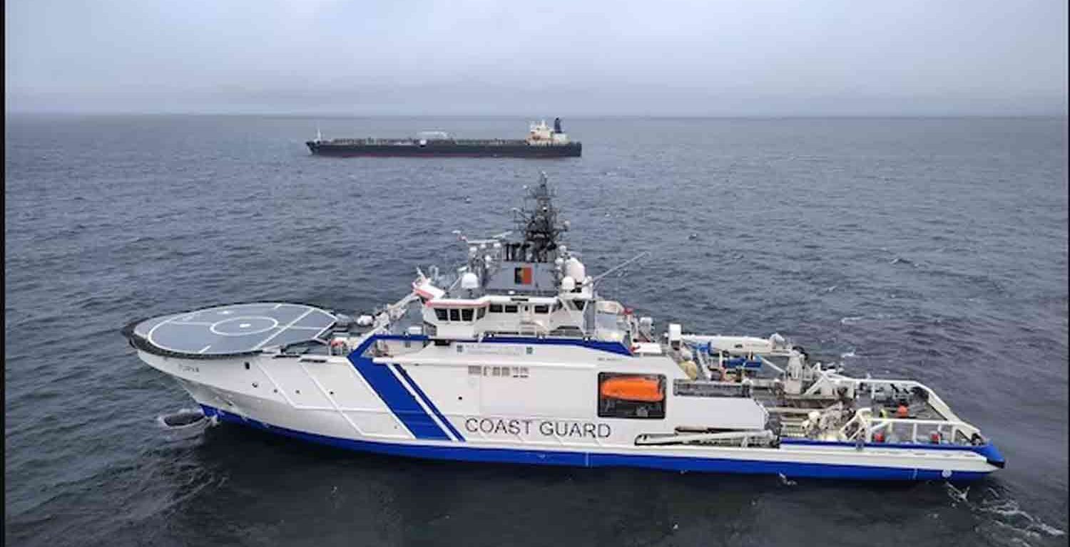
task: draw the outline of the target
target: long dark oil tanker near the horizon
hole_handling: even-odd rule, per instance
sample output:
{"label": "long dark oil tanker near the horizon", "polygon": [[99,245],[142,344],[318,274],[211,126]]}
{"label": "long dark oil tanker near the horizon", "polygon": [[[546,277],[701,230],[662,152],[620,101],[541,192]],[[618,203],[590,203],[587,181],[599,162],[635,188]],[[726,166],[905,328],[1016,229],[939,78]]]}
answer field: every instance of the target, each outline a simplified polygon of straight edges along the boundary
{"label": "long dark oil tanker near the horizon", "polygon": [[579,157],[580,142],[570,142],[561,130],[561,119],[553,129],[546,122],[531,124],[526,139],[453,139],[442,131],[425,131],[415,139],[331,139],[317,135],[308,150],[321,156],[459,156],[560,158]]}

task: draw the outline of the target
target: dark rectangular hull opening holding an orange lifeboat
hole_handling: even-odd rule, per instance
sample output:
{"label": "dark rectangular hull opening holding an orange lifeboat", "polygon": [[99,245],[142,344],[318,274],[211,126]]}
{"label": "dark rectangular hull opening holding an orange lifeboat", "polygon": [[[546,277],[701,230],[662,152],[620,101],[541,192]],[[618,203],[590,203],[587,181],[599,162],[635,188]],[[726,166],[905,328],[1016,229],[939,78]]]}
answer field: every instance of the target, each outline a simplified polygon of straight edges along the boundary
{"label": "dark rectangular hull opening holding an orange lifeboat", "polygon": [[664,375],[598,373],[598,417],[641,420],[664,418]]}

